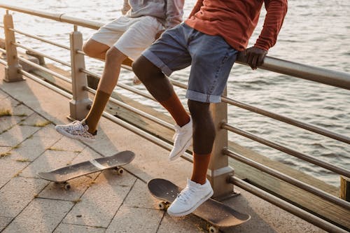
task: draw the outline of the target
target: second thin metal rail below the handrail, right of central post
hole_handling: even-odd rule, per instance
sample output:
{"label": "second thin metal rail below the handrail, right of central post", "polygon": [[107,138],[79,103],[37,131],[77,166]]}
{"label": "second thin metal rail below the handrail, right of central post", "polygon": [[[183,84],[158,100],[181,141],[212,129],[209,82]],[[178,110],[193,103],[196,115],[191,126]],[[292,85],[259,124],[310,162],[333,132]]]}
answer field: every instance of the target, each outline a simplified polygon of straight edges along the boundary
{"label": "second thin metal rail below the handrail, right of central post", "polygon": [[257,142],[262,143],[266,146],[269,146],[269,147],[274,148],[276,150],[287,153],[288,155],[293,155],[294,157],[300,158],[301,160],[311,162],[311,164],[316,164],[319,167],[323,167],[323,168],[328,169],[330,171],[333,171],[337,174],[340,174],[340,175],[343,175],[346,177],[350,177],[350,171],[347,171],[346,169],[342,169],[341,167],[337,167],[337,166],[330,164],[328,162],[323,162],[321,160],[316,159],[315,157],[297,152],[296,150],[290,149],[286,146],[281,146],[281,145],[274,143],[272,141],[262,139],[259,136],[255,136],[254,134],[246,132],[242,129],[238,129],[236,127],[233,127],[232,125],[228,125],[228,123],[226,123],[226,122],[223,122],[221,127],[223,129],[228,129],[230,132],[234,132],[234,133],[239,134],[241,136],[245,136],[248,139],[251,139],[253,141],[257,141]]}

